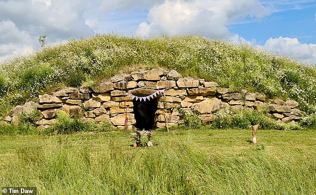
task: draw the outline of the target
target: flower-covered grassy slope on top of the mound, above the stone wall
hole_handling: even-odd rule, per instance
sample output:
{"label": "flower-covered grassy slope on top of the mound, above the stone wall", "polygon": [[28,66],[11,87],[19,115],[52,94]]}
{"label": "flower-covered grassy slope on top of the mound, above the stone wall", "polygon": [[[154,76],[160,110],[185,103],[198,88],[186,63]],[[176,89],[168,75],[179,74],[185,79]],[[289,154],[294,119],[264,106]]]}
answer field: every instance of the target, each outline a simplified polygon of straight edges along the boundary
{"label": "flower-covered grassy slope on top of the mound, above the stone wall", "polygon": [[48,46],[0,65],[0,116],[60,86],[80,86],[133,67],[175,69],[232,90],[292,98],[316,111],[316,68],[288,57],[196,36],[150,39],[96,35]]}

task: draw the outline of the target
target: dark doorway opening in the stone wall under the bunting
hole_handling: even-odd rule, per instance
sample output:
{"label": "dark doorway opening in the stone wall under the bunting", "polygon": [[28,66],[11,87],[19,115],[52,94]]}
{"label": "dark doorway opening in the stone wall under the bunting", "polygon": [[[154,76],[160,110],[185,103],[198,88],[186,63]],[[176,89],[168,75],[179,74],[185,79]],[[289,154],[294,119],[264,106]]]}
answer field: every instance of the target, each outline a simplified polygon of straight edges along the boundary
{"label": "dark doorway opening in the stone wall under the bunting", "polygon": [[140,130],[153,129],[155,124],[155,113],[157,111],[158,101],[157,98],[150,99],[149,101],[136,101],[134,103],[134,114],[136,119],[135,127]]}

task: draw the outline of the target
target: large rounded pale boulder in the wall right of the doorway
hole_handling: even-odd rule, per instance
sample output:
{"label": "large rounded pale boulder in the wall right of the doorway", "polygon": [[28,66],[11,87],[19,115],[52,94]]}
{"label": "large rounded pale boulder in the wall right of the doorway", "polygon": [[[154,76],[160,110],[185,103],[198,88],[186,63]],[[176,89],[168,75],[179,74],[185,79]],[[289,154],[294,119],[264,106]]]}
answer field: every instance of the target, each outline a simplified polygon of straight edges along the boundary
{"label": "large rounded pale boulder in the wall right of the doorway", "polygon": [[221,101],[217,98],[206,98],[200,103],[195,103],[192,108],[201,114],[211,114],[220,110],[222,107]]}

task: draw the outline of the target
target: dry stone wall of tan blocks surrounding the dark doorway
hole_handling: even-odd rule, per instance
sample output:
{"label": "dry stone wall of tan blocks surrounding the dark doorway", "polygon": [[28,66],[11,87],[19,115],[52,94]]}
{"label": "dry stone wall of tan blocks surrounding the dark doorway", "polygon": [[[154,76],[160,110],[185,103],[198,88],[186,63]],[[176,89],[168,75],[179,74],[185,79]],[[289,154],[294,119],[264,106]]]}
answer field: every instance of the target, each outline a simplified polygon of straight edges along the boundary
{"label": "dry stone wall of tan blocks surrounding the dark doorway", "polygon": [[133,97],[126,93],[148,96],[160,89],[166,90],[165,100],[161,95],[157,97],[157,128],[165,127],[166,118],[169,127],[184,123],[176,108],[188,114],[197,111],[205,123],[212,122],[217,112],[229,113],[242,108],[266,109],[271,117],[284,123],[299,121],[304,115],[294,100],[267,99],[262,94],[249,93],[247,90],[232,93],[229,88],[220,87],[215,82],[183,78],[175,70],[152,69],[116,75],[111,81],[101,82],[93,88],[65,88],[52,94],[39,95],[37,103],[27,102],[23,106],[16,106],[8,116],[1,118],[1,123],[16,125],[21,113],[30,113],[36,109],[41,113],[36,124],[44,129],[56,122],[56,111],[61,110],[70,117],[79,116],[83,123],[108,121],[115,127],[124,128],[126,111],[129,129],[135,130],[137,121]]}

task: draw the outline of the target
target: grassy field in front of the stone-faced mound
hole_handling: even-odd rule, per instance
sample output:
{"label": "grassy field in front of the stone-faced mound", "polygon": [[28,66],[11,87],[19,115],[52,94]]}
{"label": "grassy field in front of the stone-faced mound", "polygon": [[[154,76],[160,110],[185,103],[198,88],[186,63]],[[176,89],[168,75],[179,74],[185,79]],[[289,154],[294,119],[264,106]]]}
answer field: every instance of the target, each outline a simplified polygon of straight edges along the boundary
{"label": "grassy field in front of the stone-faced mound", "polygon": [[1,136],[0,186],[69,195],[315,195],[316,131],[123,132]]}

